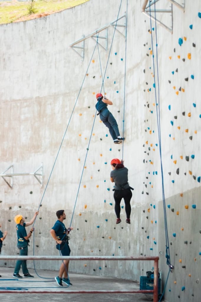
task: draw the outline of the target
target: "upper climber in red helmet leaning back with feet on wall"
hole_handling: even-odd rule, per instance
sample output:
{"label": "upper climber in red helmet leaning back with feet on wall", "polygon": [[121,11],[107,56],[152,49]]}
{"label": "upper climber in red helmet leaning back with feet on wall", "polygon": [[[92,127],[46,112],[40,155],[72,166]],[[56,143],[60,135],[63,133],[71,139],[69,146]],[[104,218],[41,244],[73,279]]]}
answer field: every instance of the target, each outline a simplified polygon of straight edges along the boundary
{"label": "upper climber in red helmet leaning back with feet on wall", "polygon": [[120,144],[123,137],[120,136],[117,122],[111,112],[107,109],[107,105],[112,105],[112,102],[108,100],[106,97],[103,97],[101,93],[97,93],[96,95],[97,103],[96,109],[98,114],[100,114],[100,119],[105,124],[105,126],[109,129],[111,137],[115,144]]}

